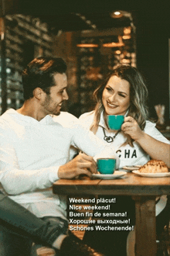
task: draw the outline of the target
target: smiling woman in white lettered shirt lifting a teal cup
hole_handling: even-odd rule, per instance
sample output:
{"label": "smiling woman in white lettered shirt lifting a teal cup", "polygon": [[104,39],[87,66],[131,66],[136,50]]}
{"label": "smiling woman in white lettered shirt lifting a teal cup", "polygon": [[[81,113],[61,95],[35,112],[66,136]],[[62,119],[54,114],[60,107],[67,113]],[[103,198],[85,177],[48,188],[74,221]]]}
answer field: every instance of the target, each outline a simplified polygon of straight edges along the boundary
{"label": "smiling woman in white lettered shirt lifting a teal cup", "polygon": [[[148,90],[144,78],[135,68],[127,65],[116,67],[107,77],[103,85],[94,92],[97,106],[92,112],[80,116],[80,122],[114,146],[120,157],[120,168],[127,165],[145,164],[150,158],[162,160],[170,167],[169,141],[148,121]],[[107,115],[124,115],[121,130],[109,130]],[[117,197],[114,212],[127,211],[134,223],[134,202],[129,197]],[[164,209],[164,211],[163,211]],[[159,199],[156,213],[162,220],[168,218],[167,198]],[[158,220],[158,218],[157,218]],[[157,225],[162,230],[166,222]],[[158,224],[158,221],[157,221]],[[84,241],[91,246],[100,247],[107,255],[126,255],[128,232],[87,232]],[[107,249],[106,249],[107,248]]]}

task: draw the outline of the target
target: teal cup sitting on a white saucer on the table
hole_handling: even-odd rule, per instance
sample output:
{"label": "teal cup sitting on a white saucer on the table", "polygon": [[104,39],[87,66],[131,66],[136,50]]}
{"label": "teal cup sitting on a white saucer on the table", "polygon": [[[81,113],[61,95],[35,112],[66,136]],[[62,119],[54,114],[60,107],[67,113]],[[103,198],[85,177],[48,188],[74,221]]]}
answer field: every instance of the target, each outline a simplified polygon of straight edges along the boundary
{"label": "teal cup sitting on a white saucer on the table", "polygon": [[97,170],[102,175],[113,175],[116,168],[116,159],[114,158],[98,158]]}

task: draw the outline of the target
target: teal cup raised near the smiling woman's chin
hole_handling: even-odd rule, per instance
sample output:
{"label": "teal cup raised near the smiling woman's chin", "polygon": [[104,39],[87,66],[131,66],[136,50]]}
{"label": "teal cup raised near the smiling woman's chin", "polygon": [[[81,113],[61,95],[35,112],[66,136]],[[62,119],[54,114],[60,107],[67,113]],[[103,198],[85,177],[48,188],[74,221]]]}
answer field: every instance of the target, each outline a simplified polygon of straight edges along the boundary
{"label": "teal cup raised near the smiling woman's chin", "polygon": [[124,116],[121,116],[121,115],[107,116],[107,125],[110,128],[110,130],[120,130],[123,123],[124,123]]}

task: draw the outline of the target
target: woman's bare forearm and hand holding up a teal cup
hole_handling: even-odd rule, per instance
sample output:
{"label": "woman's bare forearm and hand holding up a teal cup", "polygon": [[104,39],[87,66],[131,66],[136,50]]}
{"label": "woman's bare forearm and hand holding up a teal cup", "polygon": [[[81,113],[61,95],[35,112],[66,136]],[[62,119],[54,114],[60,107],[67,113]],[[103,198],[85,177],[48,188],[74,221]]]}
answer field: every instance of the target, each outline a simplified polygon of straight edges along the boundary
{"label": "woman's bare forearm and hand holding up a teal cup", "polygon": [[164,161],[170,168],[170,144],[156,140],[145,133],[131,116],[125,117],[121,130],[130,135],[151,158]]}

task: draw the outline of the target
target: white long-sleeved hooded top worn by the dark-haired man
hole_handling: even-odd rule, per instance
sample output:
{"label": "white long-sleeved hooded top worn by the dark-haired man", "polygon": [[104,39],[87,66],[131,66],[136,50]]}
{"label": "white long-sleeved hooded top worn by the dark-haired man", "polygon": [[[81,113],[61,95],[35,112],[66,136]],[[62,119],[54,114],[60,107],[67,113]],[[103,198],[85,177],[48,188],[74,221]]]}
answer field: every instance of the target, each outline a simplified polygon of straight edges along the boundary
{"label": "white long-sleeved hooded top worn by the dark-haired man", "polygon": [[[4,191],[36,216],[66,217],[66,203],[53,195],[70,145],[92,157],[117,157],[114,147],[87,131],[68,112],[37,121],[8,109],[0,117],[0,171]],[[118,157],[117,157],[118,158]]]}

